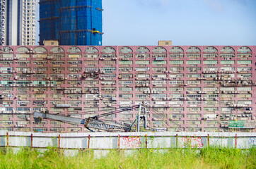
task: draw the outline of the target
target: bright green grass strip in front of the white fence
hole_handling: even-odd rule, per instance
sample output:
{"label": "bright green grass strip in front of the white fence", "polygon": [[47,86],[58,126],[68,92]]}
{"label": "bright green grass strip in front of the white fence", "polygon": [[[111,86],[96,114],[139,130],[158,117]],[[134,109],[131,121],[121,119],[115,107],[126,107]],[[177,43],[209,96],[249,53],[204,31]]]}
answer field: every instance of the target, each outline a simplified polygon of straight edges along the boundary
{"label": "bright green grass strip in front of the white fence", "polygon": [[256,149],[141,149],[127,154],[112,150],[95,158],[93,151],[77,156],[64,156],[62,150],[23,149],[14,154],[11,149],[0,153],[0,168],[256,168]]}

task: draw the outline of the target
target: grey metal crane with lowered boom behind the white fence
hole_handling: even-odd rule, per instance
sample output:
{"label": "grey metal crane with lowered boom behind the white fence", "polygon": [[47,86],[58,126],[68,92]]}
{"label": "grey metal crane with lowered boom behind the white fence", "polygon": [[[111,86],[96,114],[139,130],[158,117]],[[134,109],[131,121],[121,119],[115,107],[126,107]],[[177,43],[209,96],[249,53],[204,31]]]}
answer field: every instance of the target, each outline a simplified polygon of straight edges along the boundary
{"label": "grey metal crane with lowered boom behind the white fence", "polygon": [[[33,114],[33,117],[35,119],[35,122],[40,122],[42,119],[52,119],[57,121],[62,121],[64,123],[74,123],[78,125],[84,125],[86,129],[90,130],[91,132],[94,132],[92,129],[96,130],[104,130],[107,132],[139,132],[140,131],[140,121],[144,120],[144,128],[146,129],[146,115],[141,115],[141,104],[135,105],[129,108],[139,108],[138,115],[136,115],[136,120],[132,124],[127,123],[110,123],[105,122],[103,120],[99,120],[99,118],[106,116],[106,115],[112,115],[116,113],[121,113],[125,110],[120,110],[116,112],[110,112],[110,113],[103,113],[101,115],[95,115],[90,118],[72,118],[64,115],[57,115],[57,114],[50,114],[48,111],[44,112],[35,112]],[[132,128],[132,126],[136,123],[136,130]]]}

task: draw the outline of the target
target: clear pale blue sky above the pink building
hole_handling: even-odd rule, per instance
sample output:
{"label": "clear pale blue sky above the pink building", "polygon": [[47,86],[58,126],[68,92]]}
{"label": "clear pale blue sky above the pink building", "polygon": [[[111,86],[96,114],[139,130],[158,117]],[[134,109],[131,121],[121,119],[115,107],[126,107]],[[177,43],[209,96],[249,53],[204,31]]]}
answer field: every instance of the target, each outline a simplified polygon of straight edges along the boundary
{"label": "clear pale blue sky above the pink building", "polygon": [[103,45],[256,45],[256,0],[103,0]]}

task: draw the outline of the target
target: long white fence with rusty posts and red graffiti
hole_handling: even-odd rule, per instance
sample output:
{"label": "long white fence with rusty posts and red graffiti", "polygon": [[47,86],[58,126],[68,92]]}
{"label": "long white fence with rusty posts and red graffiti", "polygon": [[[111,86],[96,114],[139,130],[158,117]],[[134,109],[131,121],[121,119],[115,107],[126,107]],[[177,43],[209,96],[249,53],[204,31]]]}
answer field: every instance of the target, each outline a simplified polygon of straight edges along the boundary
{"label": "long white fence with rusty posts and red graffiti", "polygon": [[204,148],[256,146],[256,132],[38,133],[0,130],[0,146],[59,149]]}

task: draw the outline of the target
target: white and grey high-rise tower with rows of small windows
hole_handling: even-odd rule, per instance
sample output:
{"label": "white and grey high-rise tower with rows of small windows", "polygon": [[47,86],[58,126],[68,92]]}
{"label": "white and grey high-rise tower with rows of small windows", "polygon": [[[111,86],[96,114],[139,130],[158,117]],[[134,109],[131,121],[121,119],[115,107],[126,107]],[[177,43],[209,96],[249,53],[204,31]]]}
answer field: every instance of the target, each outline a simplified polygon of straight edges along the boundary
{"label": "white and grey high-rise tower with rows of small windows", "polygon": [[35,45],[36,0],[0,1],[0,45]]}

